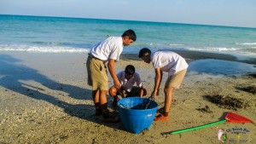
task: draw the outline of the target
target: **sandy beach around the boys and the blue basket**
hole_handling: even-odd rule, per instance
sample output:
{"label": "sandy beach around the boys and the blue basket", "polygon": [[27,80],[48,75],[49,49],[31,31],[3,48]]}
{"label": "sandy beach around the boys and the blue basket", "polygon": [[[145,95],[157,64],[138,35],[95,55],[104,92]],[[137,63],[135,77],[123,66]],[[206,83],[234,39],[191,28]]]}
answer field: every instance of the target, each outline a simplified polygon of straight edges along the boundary
{"label": "sandy beach around the boys and the blue basket", "polygon": [[[236,60],[232,55],[195,51],[175,52],[189,63],[207,59],[231,60],[253,64],[256,68],[255,59]],[[87,85],[87,56],[85,53],[1,51],[0,143],[221,143],[218,130],[224,130],[227,143],[256,143],[256,125],[251,123],[226,122],[177,135],[168,134],[222,120],[227,112],[256,122],[255,71],[241,76],[188,72],[181,88],[173,93],[170,120],[153,122],[149,130],[135,135],[124,130],[121,123],[102,123],[102,117],[94,115],[95,107]],[[117,72],[128,64],[136,66],[144,87],[151,93],[153,66],[138,60],[137,55],[122,55],[116,64]],[[161,86],[165,79],[166,75]],[[163,107],[163,87],[155,101]],[[109,98],[108,108],[116,112],[111,102]]]}

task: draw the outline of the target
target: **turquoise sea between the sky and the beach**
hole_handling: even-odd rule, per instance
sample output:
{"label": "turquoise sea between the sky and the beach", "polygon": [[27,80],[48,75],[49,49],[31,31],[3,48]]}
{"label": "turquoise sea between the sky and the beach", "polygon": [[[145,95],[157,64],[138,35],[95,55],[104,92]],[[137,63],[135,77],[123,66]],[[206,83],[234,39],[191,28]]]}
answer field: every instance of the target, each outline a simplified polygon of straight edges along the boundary
{"label": "turquoise sea between the sky and the beach", "polygon": [[0,51],[86,52],[127,29],[137,33],[137,41],[124,53],[148,47],[256,57],[256,28],[4,14],[0,14]]}

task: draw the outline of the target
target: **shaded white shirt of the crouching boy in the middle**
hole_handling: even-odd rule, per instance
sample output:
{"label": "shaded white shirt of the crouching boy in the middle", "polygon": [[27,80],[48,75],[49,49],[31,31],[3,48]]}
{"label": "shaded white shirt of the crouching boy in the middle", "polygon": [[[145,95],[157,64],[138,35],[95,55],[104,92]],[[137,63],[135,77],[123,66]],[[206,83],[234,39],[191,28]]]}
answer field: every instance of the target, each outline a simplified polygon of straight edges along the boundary
{"label": "shaded white shirt of the crouching boy in the middle", "polygon": [[137,72],[134,72],[133,77],[127,80],[127,78],[125,78],[125,71],[121,71],[117,74],[117,78],[119,78],[122,88],[129,92],[131,92],[132,86],[135,83],[137,84],[138,87],[143,86],[141,78]]}

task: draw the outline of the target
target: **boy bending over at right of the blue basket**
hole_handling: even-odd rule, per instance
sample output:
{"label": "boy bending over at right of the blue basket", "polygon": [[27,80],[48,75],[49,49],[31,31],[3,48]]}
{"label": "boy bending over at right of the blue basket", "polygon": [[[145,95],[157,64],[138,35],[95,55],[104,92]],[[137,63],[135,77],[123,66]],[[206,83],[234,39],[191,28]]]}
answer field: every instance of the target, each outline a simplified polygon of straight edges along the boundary
{"label": "boy bending over at right of the blue basket", "polygon": [[182,56],[168,50],[151,53],[150,49],[143,48],[139,52],[139,58],[148,64],[152,61],[154,66],[154,90],[151,98],[159,94],[163,72],[168,72],[165,85],[165,106],[160,108],[160,114],[154,118],[154,121],[167,121],[169,119],[169,109],[172,104],[172,91],[173,89],[178,89],[181,85],[189,65]]}

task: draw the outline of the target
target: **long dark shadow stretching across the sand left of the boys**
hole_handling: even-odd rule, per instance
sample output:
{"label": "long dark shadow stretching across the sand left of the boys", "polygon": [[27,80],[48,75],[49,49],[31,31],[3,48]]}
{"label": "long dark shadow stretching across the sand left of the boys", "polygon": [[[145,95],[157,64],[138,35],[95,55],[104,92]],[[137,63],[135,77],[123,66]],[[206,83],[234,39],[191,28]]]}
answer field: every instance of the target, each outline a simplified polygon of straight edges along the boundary
{"label": "long dark shadow stretching across the sand left of the boys", "polygon": [[[52,89],[67,93],[70,98],[76,100],[91,100],[91,90],[83,89],[70,84],[61,84],[45,77],[37,70],[20,64],[21,60],[17,60],[10,55],[0,55],[0,85],[5,89],[12,90],[21,95],[26,95],[38,101],[47,101],[52,105],[61,107],[67,114],[94,122],[96,124],[104,124],[113,129],[123,130],[118,124],[106,124],[102,122],[101,116],[95,116],[95,107],[93,105],[78,104],[73,105],[67,101],[61,101],[57,95],[44,94],[44,89]],[[31,85],[30,81],[39,84]],[[43,89],[42,89],[43,88]]]}

